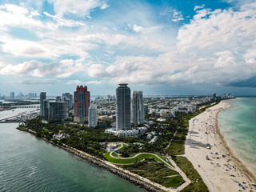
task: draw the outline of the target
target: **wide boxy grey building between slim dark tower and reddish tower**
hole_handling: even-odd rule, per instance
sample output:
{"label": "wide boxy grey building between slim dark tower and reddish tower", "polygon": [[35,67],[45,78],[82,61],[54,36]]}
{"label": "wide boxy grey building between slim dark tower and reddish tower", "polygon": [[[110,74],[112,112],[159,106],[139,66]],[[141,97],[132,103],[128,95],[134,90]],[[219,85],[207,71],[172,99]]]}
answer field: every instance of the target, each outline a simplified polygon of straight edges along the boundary
{"label": "wide boxy grey building between slim dark tower and reddish tower", "polygon": [[48,118],[66,119],[66,102],[49,102]]}

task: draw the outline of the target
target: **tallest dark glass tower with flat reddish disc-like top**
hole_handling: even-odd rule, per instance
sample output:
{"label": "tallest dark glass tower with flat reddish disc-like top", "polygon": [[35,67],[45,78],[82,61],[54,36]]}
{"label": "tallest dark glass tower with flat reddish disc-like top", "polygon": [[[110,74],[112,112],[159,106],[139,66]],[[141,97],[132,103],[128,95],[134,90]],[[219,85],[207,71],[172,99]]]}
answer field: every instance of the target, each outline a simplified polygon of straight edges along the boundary
{"label": "tallest dark glass tower with flat reddish disc-like top", "polygon": [[118,84],[117,95],[117,125],[116,130],[130,130],[130,87],[127,83]]}

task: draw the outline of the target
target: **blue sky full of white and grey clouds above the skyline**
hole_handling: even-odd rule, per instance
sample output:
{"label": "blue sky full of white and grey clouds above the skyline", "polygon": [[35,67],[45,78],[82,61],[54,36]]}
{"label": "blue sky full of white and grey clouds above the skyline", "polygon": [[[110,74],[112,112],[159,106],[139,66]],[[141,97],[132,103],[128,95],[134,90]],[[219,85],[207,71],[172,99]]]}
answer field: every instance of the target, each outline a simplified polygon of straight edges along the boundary
{"label": "blue sky full of white and grey clouds above the skyline", "polygon": [[0,93],[256,95],[254,0],[0,0]]}

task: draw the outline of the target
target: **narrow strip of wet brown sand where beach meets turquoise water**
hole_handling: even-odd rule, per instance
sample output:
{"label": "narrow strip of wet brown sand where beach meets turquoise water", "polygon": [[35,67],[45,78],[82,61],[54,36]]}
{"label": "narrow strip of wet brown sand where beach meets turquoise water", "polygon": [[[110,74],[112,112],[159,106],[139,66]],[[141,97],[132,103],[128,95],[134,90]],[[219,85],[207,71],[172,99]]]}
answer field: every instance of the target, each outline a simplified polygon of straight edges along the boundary
{"label": "narrow strip of wet brown sand where beach meets turquoise water", "polygon": [[221,113],[223,110],[230,109],[231,107],[232,107],[232,104],[230,103],[229,107],[227,107],[226,109],[222,109],[222,110],[218,111],[218,113],[216,114],[216,118],[215,118],[215,121],[216,121],[215,128],[217,130],[219,138],[222,140],[222,145],[229,152],[230,157],[232,157],[234,159],[235,164],[238,164],[240,169],[245,172],[247,177],[250,178],[252,180],[252,182],[256,182],[256,176],[252,172],[250,172],[250,170],[248,170],[247,166],[237,157],[237,155],[234,153],[234,150],[232,150],[230,148],[230,146],[227,144],[227,142],[225,140],[225,137],[223,136],[223,134],[221,133],[221,130],[219,129],[219,126],[218,126],[219,125],[218,124],[218,114]]}

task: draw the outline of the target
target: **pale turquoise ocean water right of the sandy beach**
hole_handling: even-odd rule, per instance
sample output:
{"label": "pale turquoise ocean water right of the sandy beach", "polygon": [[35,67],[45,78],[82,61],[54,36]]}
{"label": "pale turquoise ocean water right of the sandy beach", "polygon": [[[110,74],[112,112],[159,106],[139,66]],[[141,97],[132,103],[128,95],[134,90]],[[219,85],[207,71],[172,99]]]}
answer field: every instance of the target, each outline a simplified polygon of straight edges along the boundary
{"label": "pale turquoise ocean water right of the sandy beach", "polygon": [[228,146],[256,175],[256,98],[237,98],[218,115],[218,124]]}

